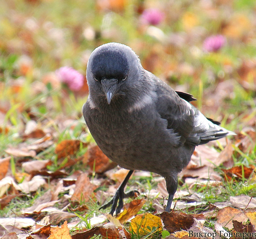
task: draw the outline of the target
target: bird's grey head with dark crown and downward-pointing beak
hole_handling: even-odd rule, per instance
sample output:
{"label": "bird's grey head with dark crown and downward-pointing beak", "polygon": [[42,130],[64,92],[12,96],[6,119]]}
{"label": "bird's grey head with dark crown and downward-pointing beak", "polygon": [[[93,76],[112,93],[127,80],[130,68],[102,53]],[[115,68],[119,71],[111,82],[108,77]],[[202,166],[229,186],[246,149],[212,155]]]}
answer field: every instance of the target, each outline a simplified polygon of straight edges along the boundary
{"label": "bird's grey head with dark crown and downward-pointing beak", "polygon": [[110,101],[127,95],[138,85],[143,75],[140,59],[134,51],[120,43],[111,42],[97,47],[89,57],[86,70],[91,98],[104,97]]}

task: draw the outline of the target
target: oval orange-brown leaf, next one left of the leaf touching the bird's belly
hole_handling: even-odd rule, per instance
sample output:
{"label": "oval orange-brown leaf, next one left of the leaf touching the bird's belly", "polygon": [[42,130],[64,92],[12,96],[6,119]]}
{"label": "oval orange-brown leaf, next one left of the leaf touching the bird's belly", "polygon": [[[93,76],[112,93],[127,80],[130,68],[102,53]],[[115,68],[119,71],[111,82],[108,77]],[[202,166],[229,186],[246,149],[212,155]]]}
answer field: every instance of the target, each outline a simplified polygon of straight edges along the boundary
{"label": "oval orange-brown leaf, next one left of the leaf touching the bird's belly", "polygon": [[76,154],[80,148],[80,143],[80,140],[72,139],[61,141],[55,148],[55,153],[57,154],[58,159]]}

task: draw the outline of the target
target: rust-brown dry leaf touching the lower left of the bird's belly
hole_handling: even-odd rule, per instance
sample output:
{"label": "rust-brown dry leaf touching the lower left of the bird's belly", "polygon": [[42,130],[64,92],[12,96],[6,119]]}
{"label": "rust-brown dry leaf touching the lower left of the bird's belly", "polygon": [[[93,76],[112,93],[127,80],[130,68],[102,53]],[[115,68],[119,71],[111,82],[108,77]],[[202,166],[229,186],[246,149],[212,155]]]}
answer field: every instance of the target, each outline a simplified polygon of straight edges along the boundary
{"label": "rust-brown dry leaf touching the lower left of the bird's belly", "polygon": [[90,166],[90,170],[96,173],[104,173],[117,165],[104,155],[98,145],[88,147],[88,150],[84,155],[84,159]]}

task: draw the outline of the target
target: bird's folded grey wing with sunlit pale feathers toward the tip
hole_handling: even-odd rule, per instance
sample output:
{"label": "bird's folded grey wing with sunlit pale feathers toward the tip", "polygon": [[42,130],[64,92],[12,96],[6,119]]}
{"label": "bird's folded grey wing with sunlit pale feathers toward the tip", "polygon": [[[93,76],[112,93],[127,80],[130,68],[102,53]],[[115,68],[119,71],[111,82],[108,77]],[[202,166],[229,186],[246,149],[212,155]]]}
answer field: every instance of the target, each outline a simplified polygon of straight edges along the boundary
{"label": "bird's folded grey wing with sunlit pale feathers toward the tip", "polygon": [[234,135],[218,126],[216,121],[207,119],[189,101],[193,98],[187,93],[175,92],[167,84],[156,80],[157,84],[157,112],[161,118],[167,120],[167,128],[181,136],[181,142],[198,145],[225,135]]}

